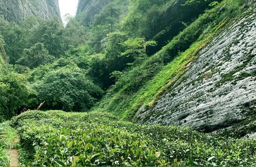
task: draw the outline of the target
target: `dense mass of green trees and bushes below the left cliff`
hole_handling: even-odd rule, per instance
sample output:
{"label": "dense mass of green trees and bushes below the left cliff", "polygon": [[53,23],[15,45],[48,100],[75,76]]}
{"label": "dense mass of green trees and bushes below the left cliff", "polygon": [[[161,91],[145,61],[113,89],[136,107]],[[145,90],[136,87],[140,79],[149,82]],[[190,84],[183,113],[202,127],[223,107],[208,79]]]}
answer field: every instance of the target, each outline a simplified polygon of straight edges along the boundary
{"label": "dense mass of green trees and bushes below the left cliff", "polygon": [[[46,108],[85,111],[102,96],[103,91],[85,71],[88,47],[74,52],[86,39],[86,27],[76,19],[66,28],[55,18],[32,17],[19,24],[1,18],[0,22],[1,122],[43,101],[47,101]],[[7,62],[13,65],[3,65]],[[64,78],[60,79],[61,73]],[[58,82],[52,82],[55,79]]]}

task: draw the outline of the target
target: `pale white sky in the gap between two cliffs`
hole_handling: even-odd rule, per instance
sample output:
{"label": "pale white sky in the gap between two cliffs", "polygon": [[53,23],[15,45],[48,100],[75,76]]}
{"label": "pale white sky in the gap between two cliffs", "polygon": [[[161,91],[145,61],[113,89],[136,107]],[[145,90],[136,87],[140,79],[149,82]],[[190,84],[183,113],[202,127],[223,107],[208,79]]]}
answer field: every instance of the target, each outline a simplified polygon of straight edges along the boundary
{"label": "pale white sky in the gap between two cliffs", "polygon": [[70,14],[72,16],[76,15],[78,0],[59,0],[61,18],[65,22],[63,16],[65,14]]}

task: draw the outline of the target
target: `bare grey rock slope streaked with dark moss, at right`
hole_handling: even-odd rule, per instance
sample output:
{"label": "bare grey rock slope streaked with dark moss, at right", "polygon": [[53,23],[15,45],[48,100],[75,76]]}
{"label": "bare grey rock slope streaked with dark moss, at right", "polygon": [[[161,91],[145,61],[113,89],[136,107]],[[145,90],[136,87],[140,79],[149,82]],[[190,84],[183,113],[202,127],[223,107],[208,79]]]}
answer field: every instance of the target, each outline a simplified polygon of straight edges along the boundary
{"label": "bare grey rock slope streaked with dark moss, at right", "polygon": [[256,114],[255,55],[254,10],[210,41],[155,105],[142,106],[134,119],[212,132],[252,118]]}

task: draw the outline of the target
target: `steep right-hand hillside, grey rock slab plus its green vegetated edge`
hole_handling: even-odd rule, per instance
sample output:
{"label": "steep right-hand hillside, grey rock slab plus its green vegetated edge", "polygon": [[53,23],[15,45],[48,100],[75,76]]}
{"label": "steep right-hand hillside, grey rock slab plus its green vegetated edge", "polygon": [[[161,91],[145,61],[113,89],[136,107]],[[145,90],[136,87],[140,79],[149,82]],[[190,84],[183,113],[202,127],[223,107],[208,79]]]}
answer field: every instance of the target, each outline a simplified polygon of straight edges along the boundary
{"label": "steep right-hand hillside, grey rock slab plus its green vegetated edge", "polygon": [[[216,20],[209,17],[214,18],[218,6],[154,56],[124,72],[94,109],[138,123],[175,124],[207,132],[253,117],[255,6],[238,10],[233,17],[229,2],[221,3],[225,5],[220,6],[222,14]],[[246,36],[244,32],[249,33]],[[192,33],[194,39],[183,41]],[[201,36],[197,39],[195,35]],[[182,48],[184,43],[187,49]],[[170,61],[168,57],[176,58]],[[153,64],[159,65],[150,66]]]}

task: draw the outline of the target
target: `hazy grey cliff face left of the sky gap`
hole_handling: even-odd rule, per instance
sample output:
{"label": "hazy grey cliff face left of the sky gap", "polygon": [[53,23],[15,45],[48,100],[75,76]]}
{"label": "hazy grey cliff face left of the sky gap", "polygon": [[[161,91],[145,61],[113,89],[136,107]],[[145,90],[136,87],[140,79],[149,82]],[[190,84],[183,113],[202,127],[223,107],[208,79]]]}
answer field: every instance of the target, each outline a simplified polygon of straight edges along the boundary
{"label": "hazy grey cliff face left of the sky gap", "polygon": [[0,15],[16,23],[30,16],[61,19],[58,0],[0,0]]}

